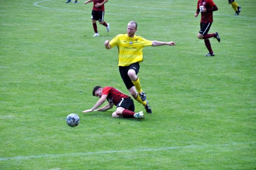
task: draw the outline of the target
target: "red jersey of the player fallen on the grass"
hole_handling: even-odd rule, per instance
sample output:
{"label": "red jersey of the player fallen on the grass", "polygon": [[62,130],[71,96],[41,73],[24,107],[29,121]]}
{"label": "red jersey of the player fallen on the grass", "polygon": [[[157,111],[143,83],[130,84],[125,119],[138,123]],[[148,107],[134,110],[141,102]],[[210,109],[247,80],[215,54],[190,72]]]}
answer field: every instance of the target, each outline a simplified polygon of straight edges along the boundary
{"label": "red jersey of the player fallen on the grass", "polygon": [[127,96],[126,94],[123,94],[121,91],[117,90],[116,88],[113,87],[105,87],[102,90],[102,95],[107,94],[107,100],[110,103],[113,103],[114,105],[117,105],[122,98],[128,98],[130,96]]}

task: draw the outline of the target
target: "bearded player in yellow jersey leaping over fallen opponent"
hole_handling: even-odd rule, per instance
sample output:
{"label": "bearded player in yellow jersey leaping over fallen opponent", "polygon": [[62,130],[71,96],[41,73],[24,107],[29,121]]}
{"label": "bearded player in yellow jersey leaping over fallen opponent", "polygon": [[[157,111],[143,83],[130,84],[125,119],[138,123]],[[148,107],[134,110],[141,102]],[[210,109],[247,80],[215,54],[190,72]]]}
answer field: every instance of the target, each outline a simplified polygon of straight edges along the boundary
{"label": "bearded player in yellow jersey leaping over fallen opponent", "polygon": [[137,76],[140,69],[140,62],[143,61],[143,48],[145,46],[175,45],[175,42],[150,41],[135,35],[137,23],[130,21],[127,26],[127,34],[119,34],[111,41],[106,40],[104,45],[107,49],[118,47],[119,72],[130,94],[138,102],[143,104],[147,113],[152,113],[146,94],[140,86],[140,79]]}

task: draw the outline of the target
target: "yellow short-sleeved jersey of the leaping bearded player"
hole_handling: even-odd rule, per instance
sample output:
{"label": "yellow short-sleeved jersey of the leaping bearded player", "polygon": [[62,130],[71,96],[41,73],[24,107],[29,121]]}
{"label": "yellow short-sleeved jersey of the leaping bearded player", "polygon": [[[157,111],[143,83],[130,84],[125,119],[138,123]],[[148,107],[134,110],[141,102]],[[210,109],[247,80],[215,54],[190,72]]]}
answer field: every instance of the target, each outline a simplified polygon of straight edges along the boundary
{"label": "yellow short-sleeved jersey of the leaping bearded player", "polygon": [[129,37],[127,34],[119,34],[109,44],[111,48],[118,48],[118,66],[128,66],[143,61],[143,47],[152,45],[152,41],[136,35]]}

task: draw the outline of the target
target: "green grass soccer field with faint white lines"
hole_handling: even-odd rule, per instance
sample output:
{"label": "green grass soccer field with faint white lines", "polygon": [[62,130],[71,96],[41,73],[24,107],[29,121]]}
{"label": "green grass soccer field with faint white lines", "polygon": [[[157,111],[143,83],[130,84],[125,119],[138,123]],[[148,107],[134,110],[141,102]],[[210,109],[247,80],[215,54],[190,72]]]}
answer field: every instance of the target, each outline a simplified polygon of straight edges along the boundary
{"label": "green grass soccer field with faint white lines", "polygon": [[[74,1],[74,0],[73,0]],[[109,0],[110,31],[92,3],[0,0],[0,170],[256,170],[256,3],[214,0],[214,57],[197,38],[197,0]],[[137,35],[174,41],[145,47],[140,82],[152,114],[82,113],[96,85],[129,94],[118,49],[105,40],[138,23]],[[66,117],[76,113],[77,127]]]}

